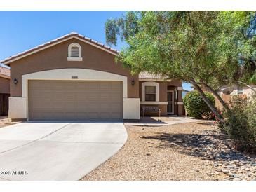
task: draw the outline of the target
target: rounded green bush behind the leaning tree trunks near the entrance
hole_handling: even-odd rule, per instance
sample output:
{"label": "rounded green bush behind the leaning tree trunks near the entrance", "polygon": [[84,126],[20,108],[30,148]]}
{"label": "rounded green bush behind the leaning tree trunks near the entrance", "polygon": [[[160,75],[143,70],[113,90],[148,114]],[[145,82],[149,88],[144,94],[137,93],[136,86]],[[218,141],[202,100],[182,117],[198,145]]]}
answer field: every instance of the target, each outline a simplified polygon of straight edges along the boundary
{"label": "rounded green bush behind the leaning tree trunks near the entrance", "polygon": [[[208,97],[210,102],[215,105],[215,97],[213,97],[213,95],[211,95],[209,92],[206,92],[206,97]],[[194,118],[212,118],[212,112],[210,111],[210,108],[206,102],[203,101],[203,98],[198,91],[188,92],[184,97],[183,102],[189,116]]]}

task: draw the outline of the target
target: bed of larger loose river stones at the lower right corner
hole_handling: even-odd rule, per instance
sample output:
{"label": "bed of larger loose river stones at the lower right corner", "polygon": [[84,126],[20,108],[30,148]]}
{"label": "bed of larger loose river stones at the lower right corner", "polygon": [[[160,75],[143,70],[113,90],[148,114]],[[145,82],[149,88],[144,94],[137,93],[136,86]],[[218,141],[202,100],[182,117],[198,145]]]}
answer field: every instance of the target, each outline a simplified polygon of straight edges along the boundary
{"label": "bed of larger loose river stones at the lower right corner", "polygon": [[210,159],[208,166],[215,168],[215,172],[210,174],[223,173],[224,180],[256,180],[256,158],[236,151],[232,142],[225,135],[222,137],[219,143],[214,140],[215,143],[204,147],[201,152],[202,156]]}

